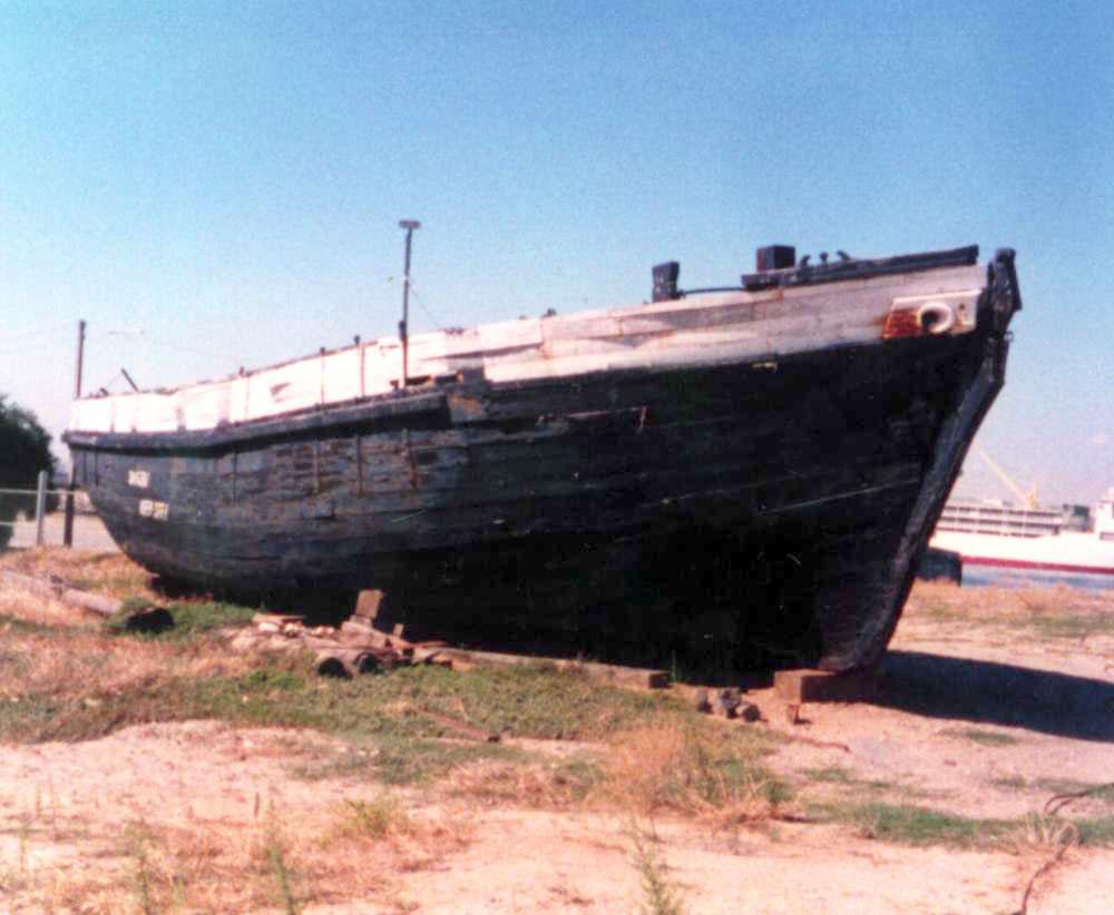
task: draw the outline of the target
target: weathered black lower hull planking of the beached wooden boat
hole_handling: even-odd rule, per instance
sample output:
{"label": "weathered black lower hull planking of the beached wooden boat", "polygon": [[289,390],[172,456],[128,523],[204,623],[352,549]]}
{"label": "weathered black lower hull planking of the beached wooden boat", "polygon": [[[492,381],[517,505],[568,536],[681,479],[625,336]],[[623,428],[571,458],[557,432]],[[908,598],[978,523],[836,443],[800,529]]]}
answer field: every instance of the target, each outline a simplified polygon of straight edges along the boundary
{"label": "weathered black lower hull planking of the beached wooden boat", "polygon": [[960,336],[67,439],[121,549],[202,588],[379,588],[431,634],[846,669],[885,649],[1001,385],[995,266]]}

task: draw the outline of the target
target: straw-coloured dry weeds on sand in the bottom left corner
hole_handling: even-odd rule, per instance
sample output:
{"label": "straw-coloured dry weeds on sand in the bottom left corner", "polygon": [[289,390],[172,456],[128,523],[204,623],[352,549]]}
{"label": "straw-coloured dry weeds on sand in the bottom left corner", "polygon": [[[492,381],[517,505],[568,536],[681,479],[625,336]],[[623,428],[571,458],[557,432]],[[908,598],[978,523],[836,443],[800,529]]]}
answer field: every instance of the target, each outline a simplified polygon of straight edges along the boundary
{"label": "straw-coloured dry weeds on sand in the bottom left corner", "polygon": [[[367,827],[369,811],[382,814],[381,829]],[[412,815],[389,798],[326,814],[272,807],[257,821],[167,823],[148,814],[118,829],[104,855],[89,856],[86,846],[71,865],[59,858],[59,866],[0,868],[0,894],[20,911],[106,915],[389,903],[401,874],[443,859],[469,838],[462,820]]]}

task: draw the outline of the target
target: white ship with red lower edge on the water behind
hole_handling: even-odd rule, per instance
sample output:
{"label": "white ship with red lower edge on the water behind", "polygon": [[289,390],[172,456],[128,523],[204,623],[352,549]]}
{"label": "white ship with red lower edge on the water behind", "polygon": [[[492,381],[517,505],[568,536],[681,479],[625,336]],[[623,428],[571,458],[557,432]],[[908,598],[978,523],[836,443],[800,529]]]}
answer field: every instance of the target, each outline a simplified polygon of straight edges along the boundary
{"label": "white ship with red lower edge on the water behind", "polygon": [[964,568],[989,565],[1114,577],[1114,488],[1092,512],[1091,531],[1071,530],[1054,508],[951,499],[929,545],[959,553]]}

